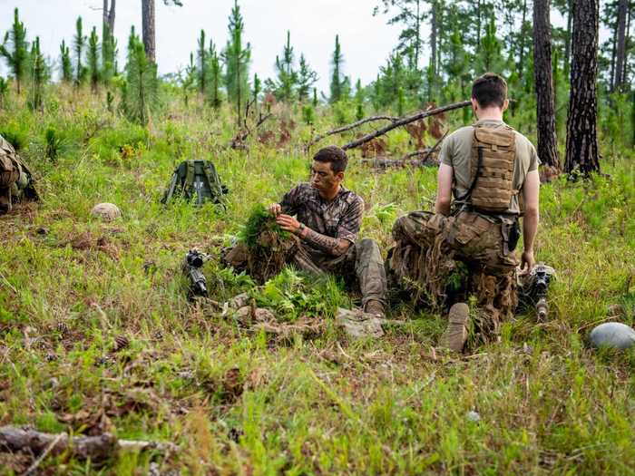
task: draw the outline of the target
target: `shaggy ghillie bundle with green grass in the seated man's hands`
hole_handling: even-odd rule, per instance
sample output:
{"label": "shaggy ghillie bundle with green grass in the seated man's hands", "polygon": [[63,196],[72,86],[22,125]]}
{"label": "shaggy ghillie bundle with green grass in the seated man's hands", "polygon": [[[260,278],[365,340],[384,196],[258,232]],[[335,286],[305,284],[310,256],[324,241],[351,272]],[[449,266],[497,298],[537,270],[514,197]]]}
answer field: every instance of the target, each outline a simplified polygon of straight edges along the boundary
{"label": "shaggy ghillie bundle with green grass in the seated man's hands", "polygon": [[259,284],[275,277],[298,250],[298,238],[284,231],[269,211],[257,206],[239,233],[238,242],[221,251],[221,261],[247,271]]}

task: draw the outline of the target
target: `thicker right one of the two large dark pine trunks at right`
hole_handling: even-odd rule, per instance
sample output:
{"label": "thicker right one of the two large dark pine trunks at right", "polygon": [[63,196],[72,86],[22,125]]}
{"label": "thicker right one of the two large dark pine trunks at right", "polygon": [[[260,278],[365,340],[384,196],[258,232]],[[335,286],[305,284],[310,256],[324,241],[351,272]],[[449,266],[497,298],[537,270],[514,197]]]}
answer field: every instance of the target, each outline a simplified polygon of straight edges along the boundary
{"label": "thicker right one of the two large dark pine trunks at right", "polygon": [[564,170],[585,177],[600,171],[596,79],[599,0],[576,0],[573,11],[572,73]]}

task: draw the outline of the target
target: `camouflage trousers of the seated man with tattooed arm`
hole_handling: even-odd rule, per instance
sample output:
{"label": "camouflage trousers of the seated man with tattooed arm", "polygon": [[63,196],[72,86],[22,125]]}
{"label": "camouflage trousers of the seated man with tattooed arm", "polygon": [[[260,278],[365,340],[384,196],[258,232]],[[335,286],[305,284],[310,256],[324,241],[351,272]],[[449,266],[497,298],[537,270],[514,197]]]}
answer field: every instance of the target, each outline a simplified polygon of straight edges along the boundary
{"label": "camouflage trousers of the seated man with tattooed arm", "polygon": [[[221,252],[221,261],[237,270],[246,270],[249,248],[238,243]],[[294,250],[288,254],[287,263],[313,276],[333,275],[342,277],[347,287],[358,287],[362,295],[362,306],[376,300],[386,307],[386,269],[374,239],[360,239],[339,257],[315,259],[298,240]]]}

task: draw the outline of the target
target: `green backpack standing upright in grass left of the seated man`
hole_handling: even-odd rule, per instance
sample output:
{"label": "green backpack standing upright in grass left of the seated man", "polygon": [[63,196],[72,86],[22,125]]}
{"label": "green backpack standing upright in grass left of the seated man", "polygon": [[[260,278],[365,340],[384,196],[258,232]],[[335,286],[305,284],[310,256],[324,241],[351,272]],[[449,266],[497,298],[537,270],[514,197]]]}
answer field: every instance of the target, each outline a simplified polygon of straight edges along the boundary
{"label": "green backpack standing upright in grass left of the seated man", "polygon": [[161,203],[166,204],[172,198],[196,199],[196,206],[210,200],[224,206],[223,195],[228,192],[214,164],[210,160],[185,160],[174,170],[170,187],[165,190]]}

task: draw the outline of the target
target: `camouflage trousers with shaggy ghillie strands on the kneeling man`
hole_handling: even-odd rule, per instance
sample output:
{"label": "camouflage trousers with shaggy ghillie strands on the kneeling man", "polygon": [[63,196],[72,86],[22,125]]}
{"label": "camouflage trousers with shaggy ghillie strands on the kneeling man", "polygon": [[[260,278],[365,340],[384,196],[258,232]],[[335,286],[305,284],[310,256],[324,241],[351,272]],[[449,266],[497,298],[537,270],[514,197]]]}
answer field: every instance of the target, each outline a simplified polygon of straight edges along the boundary
{"label": "camouflage trousers with shaggy ghillie strands on the kneeling man", "polygon": [[446,288],[457,270],[467,269],[467,292],[477,299],[474,325],[483,339],[500,331],[518,303],[515,268],[518,260],[507,250],[504,224],[474,212],[451,217],[415,211],[396,220],[386,266],[401,287],[424,296],[433,308],[451,305]]}

